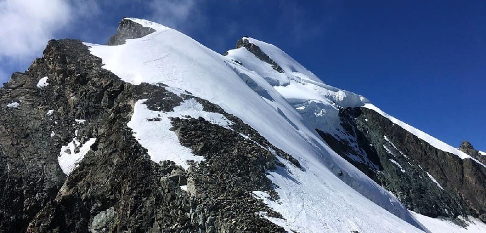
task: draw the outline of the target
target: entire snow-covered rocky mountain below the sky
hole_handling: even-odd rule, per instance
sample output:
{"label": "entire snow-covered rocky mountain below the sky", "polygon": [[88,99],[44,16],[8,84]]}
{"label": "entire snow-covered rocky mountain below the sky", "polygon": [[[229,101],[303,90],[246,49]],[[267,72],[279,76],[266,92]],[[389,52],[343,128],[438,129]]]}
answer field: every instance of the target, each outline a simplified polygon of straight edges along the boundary
{"label": "entire snow-covered rocky mountain below the sky", "polygon": [[251,37],[221,55],[125,18],[0,97],[7,232],[486,231],[481,159]]}

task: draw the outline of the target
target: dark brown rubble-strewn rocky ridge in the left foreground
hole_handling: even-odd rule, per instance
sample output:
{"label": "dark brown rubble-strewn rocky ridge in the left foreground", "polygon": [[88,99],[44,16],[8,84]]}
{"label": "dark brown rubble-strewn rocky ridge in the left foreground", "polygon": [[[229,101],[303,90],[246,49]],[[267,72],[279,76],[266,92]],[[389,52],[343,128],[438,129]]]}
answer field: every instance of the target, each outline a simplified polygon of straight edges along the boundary
{"label": "dark brown rubble-strewn rocky ridge in the left foreground", "polygon": [[[110,43],[141,32],[124,21]],[[48,84],[38,87],[42,77]],[[173,118],[181,144],[206,160],[187,171],[153,162],[127,127],[135,102],[167,112],[191,98],[232,130]],[[49,41],[42,58],[0,88],[0,106],[0,232],[284,232],[257,214],[281,217],[251,192],[278,199],[265,174],[283,166],[277,156],[300,167],[295,158],[207,100],[121,81],[79,40]],[[66,176],[57,158],[73,138],[96,141]]]}

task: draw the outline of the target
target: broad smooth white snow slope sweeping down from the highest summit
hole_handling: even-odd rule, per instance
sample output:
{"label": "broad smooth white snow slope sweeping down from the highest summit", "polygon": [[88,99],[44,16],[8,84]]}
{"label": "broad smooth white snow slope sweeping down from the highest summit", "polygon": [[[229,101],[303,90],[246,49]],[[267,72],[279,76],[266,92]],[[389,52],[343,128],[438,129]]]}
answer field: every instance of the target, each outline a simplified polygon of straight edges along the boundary
{"label": "broad smooth white snow slope sweeping down from the highest summit", "polygon": [[[144,20],[128,20],[135,20],[143,26],[149,25],[149,22]],[[235,67],[237,65],[235,62],[225,59],[225,57],[209,50],[190,37],[172,29],[160,28],[156,33],[149,34],[139,40],[128,40],[126,44],[117,47],[87,45],[91,46],[90,51],[93,55],[103,59],[104,67],[114,72],[122,80],[134,84],[141,82],[164,83],[169,87],[187,90],[195,96],[214,102],[228,113],[240,117],[273,145],[297,158],[306,169],[306,173],[300,175],[301,180],[287,182],[289,180],[283,178],[287,176],[285,171],[281,172],[283,174],[275,174],[276,178],[273,180],[282,190],[281,193],[279,189],[276,191],[291,200],[282,202],[284,207],[281,208],[288,212],[284,217],[288,218],[289,222],[290,219],[293,219],[292,221],[302,224],[301,226],[291,225],[297,231],[299,228],[302,229],[301,231],[309,231],[311,226],[306,225],[309,224],[310,219],[303,218],[306,215],[299,214],[301,210],[295,209],[295,205],[303,206],[302,208],[305,211],[309,211],[307,216],[321,216],[313,219],[322,224],[313,224],[317,226],[317,229],[330,222],[330,216],[326,216],[326,214],[322,216],[319,213],[328,213],[328,211],[322,210],[329,208],[329,204],[323,202],[322,197],[312,195],[311,188],[307,188],[309,191],[305,189],[306,186],[317,189],[318,187],[313,187],[316,186],[315,183],[322,183],[321,190],[317,189],[319,193],[330,193],[329,185],[344,188],[337,196],[329,199],[329,203],[344,202],[343,204],[334,204],[335,206],[343,206],[341,207],[342,210],[339,211],[343,218],[347,216],[351,219],[350,216],[356,216],[360,219],[360,216],[369,215],[359,213],[360,210],[356,209],[357,204],[353,203],[358,199],[361,205],[366,206],[364,203],[369,202],[369,200],[363,199],[359,194],[355,198],[342,196],[344,193],[355,192],[343,185],[333,173],[340,173],[342,180],[354,183],[353,188],[364,193],[368,198],[373,199],[407,221],[414,222],[398,201],[390,201],[394,200],[393,196],[390,196],[376,183],[363,176],[361,172],[335,153],[331,155],[330,153],[333,153],[333,151],[305,126],[295,109],[278,92],[269,93],[272,99],[276,101],[267,101],[250,89],[240,77],[243,76],[241,75],[243,72],[248,77],[254,76],[255,73],[244,67]],[[235,70],[241,72],[240,75]],[[290,170],[290,172],[295,174],[294,179],[296,179],[295,177],[298,178],[297,175],[300,173],[299,170]],[[314,174],[307,175],[312,173]],[[325,182],[322,181],[322,177],[326,177]],[[302,189],[305,190],[303,194],[296,191]],[[285,192],[285,190],[294,191]],[[315,206],[315,203],[320,205]],[[372,202],[370,204],[373,206]],[[313,206],[316,209],[313,209]],[[354,210],[346,211],[349,208]],[[370,208],[363,208],[361,211],[368,211]],[[375,209],[378,213],[382,211],[381,208]],[[335,218],[335,216],[331,218]],[[336,228],[349,230],[347,224],[346,226],[338,225]]]}

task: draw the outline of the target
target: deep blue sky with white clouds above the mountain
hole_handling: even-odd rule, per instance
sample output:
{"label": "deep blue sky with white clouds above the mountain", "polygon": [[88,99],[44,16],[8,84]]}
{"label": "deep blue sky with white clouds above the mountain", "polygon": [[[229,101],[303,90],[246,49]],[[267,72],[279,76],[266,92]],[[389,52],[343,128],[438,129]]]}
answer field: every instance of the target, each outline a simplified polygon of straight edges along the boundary
{"label": "deep blue sky with white clouds above the mountain", "polygon": [[485,1],[21,2],[0,0],[1,83],[50,38],[104,43],[122,17],[140,17],[221,53],[243,35],[275,44],[325,83],[452,146],[486,151]]}

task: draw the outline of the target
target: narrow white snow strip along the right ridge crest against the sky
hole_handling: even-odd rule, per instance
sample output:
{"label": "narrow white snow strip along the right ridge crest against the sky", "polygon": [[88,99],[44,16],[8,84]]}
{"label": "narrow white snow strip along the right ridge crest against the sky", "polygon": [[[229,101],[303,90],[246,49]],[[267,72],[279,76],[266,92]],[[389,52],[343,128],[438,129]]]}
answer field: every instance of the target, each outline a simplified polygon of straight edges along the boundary
{"label": "narrow white snow strip along the right ridge crest against the sky", "polygon": [[380,115],[388,118],[391,122],[393,122],[394,124],[397,124],[399,125],[401,128],[403,128],[404,130],[416,135],[418,138],[426,141],[427,143],[429,143],[430,145],[432,145],[433,147],[439,149],[439,150],[442,150],[442,151],[445,151],[445,152],[449,152],[449,153],[452,153],[452,154],[455,154],[457,156],[459,156],[459,158],[461,159],[472,159],[474,160],[476,163],[486,167],[483,163],[479,162],[477,159],[469,156],[468,154],[462,152],[461,150],[458,150],[448,144],[446,144],[445,142],[442,142],[440,141],[439,139],[427,134],[427,133],[424,133],[423,131],[417,129],[417,128],[414,128],[413,126],[410,126],[409,124],[393,117],[393,116],[390,116],[388,114],[386,114],[385,112],[383,112],[381,109],[379,109],[378,107],[376,107],[375,105],[371,104],[371,103],[365,103],[364,104],[364,107],[365,108],[368,108],[368,109],[371,109],[377,113],[379,113]]}

